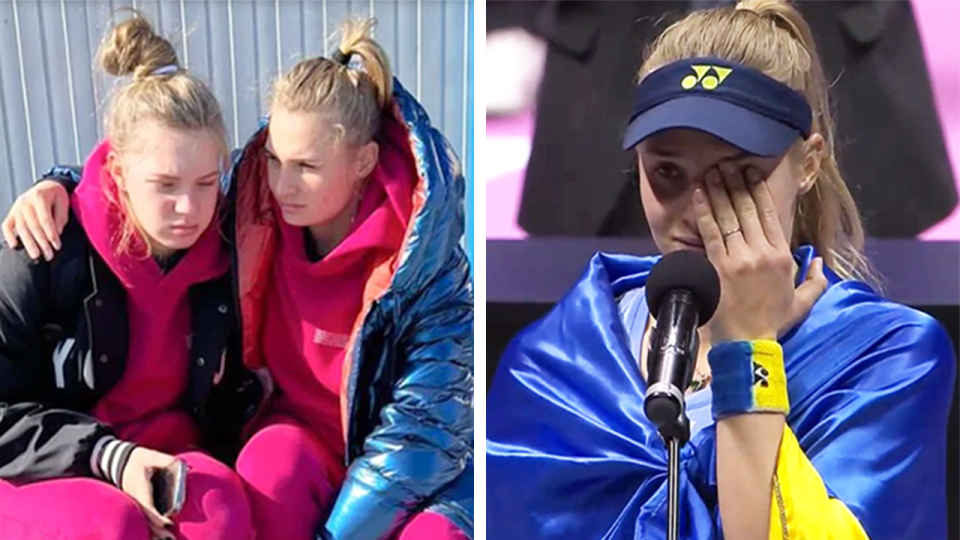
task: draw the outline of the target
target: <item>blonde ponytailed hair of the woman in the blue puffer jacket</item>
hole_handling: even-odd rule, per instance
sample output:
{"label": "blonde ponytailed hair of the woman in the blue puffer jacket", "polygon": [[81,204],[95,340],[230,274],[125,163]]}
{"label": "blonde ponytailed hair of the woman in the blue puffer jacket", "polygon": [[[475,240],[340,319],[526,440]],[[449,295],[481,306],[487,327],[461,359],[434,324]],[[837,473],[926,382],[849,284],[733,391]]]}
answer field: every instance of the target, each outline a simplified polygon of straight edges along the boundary
{"label": "blonde ponytailed hair of the woman in the blue puffer jacket", "polygon": [[[374,19],[348,19],[340,27],[339,56],[299,62],[273,85],[270,109],[320,113],[337,142],[363,145],[380,131],[380,114],[392,99],[393,76],[383,48],[370,32]],[[336,56],[336,55],[335,55]]]}

